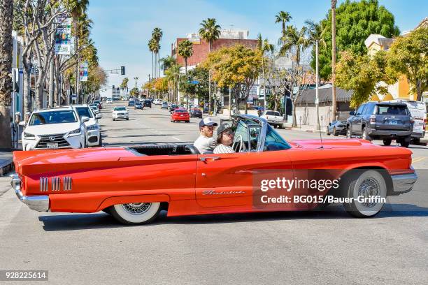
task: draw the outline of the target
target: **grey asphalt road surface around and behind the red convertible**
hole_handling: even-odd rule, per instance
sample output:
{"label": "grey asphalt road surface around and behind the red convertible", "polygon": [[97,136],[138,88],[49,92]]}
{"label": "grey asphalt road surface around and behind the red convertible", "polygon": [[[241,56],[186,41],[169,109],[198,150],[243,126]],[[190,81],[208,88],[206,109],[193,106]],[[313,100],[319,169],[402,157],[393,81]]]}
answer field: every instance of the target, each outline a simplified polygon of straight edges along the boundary
{"label": "grey asphalt road surface around and behind the red convertible", "polygon": [[[131,109],[129,121],[113,122],[110,107],[103,113],[108,146],[197,137],[199,119],[173,124],[159,108]],[[324,212],[162,212],[148,226],[122,226],[103,212],[34,212],[13,191],[0,191],[0,270],[49,270],[49,284],[427,284],[428,152],[412,150],[422,158],[415,189],[390,198],[371,219],[333,205]],[[0,179],[1,189],[7,184]]]}

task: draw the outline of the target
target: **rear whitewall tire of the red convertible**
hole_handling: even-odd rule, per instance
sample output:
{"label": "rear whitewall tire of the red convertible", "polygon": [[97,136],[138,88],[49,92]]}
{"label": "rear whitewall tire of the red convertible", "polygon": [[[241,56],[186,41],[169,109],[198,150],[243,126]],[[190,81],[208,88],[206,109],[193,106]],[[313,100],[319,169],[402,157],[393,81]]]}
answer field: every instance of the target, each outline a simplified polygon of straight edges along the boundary
{"label": "rear whitewall tire of the red convertible", "polygon": [[156,219],[161,209],[160,206],[161,203],[117,204],[110,207],[110,213],[122,224],[148,224]]}

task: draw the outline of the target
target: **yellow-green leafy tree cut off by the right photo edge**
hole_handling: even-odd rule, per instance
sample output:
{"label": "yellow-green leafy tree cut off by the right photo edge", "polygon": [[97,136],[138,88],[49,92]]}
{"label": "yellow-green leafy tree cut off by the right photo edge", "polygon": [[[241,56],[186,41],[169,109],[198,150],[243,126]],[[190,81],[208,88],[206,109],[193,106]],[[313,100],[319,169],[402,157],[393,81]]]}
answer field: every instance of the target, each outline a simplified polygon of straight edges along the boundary
{"label": "yellow-green leafy tree cut off by the right photo edge", "polygon": [[428,89],[428,27],[395,39],[387,52],[388,71],[406,75],[418,101]]}

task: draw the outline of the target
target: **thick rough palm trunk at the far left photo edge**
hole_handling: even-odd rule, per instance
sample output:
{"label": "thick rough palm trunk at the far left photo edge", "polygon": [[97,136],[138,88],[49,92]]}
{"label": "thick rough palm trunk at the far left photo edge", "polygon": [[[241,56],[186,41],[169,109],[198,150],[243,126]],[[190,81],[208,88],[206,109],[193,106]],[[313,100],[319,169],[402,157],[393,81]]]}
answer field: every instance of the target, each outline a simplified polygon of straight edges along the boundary
{"label": "thick rough palm trunk at the far left photo edge", "polygon": [[13,0],[0,0],[0,148],[12,147],[10,101],[12,101]]}

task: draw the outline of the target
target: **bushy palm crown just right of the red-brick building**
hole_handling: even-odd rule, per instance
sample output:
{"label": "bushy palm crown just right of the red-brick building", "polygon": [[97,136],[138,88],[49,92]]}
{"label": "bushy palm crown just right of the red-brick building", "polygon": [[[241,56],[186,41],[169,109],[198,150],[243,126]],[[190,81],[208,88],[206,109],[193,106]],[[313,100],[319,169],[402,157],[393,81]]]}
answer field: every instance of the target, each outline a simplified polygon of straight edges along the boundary
{"label": "bushy palm crown just right of the red-brick building", "polygon": [[287,52],[296,49],[296,64],[300,66],[300,55],[306,47],[308,47],[308,41],[306,41],[306,27],[302,27],[298,30],[294,26],[287,26],[283,36],[279,39],[280,44],[280,55],[284,56]]}

